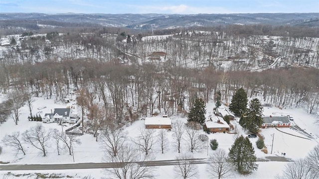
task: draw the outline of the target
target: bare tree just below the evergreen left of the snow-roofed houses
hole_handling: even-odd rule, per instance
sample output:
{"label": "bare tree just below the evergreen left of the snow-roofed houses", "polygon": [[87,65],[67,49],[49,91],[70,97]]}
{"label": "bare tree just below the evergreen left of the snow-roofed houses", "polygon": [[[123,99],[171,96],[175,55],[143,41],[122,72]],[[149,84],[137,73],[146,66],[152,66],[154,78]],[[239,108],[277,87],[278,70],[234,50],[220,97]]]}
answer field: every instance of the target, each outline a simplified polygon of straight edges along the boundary
{"label": "bare tree just below the evergreen left of the snow-roofed houses", "polygon": [[201,141],[199,140],[199,132],[192,127],[185,127],[187,139],[186,143],[190,152],[198,151],[201,149]]}

